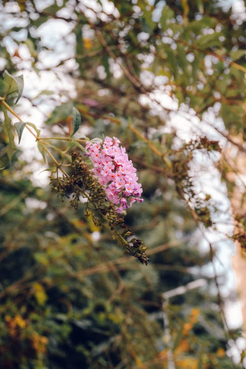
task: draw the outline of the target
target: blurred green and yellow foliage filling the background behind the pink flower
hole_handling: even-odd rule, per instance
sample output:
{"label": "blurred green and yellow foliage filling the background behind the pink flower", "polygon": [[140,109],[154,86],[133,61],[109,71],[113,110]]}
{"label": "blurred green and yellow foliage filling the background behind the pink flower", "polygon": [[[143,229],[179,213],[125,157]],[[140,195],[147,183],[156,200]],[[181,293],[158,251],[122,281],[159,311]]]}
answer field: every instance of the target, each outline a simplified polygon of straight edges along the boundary
{"label": "blurred green and yellow foliage filling the background behind the pink flower", "polygon": [[[62,164],[79,151],[71,138],[77,129],[76,137],[120,138],[144,188],[144,202],[124,220],[148,246],[150,263],[124,256],[109,230],[85,216],[85,204],[75,211],[49,186],[36,185],[25,150],[14,141],[24,126],[14,127],[1,103],[0,368],[232,368],[226,350],[240,330],[226,329],[220,279],[204,276],[215,250],[201,252],[197,232],[198,223],[215,229],[217,209],[210,195],[196,192],[194,157],[211,163],[220,153],[219,133],[196,128],[187,141],[169,123],[175,112],[202,126],[211,113],[222,118],[232,142],[234,135],[245,138],[244,23],[217,1],[94,2],[0,4],[6,20],[0,22],[1,97],[9,106],[19,98],[21,70],[40,80],[49,70],[73,81],[72,97],[53,85],[56,94],[40,86],[33,97],[24,89],[18,114],[25,111],[22,101],[50,107],[41,134],[30,126],[37,136],[63,137],[48,141]],[[57,40],[54,30],[62,25],[70,31]],[[55,62],[47,67],[46,58]],[[10,92],[1,82],[4,69],[17,73],[17,96],[4,97]],[[219,155],[230,194],[232,169]],[[206,278],[204,287],[163,302],[163,292],[199,277]]]}

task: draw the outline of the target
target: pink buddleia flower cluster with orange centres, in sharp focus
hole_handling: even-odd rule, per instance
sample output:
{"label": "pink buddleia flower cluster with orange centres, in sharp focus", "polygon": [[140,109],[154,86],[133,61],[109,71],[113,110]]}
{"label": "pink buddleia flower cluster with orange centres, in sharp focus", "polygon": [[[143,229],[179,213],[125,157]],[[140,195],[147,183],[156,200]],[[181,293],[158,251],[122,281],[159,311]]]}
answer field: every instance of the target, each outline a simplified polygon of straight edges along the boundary
{"label": "pink buddleia flower cluster with orange centres, in sharp focus", "polygon": [[143,201],[136,169],[120,143],[116,137],[105,137],[102,143],[88,141],[86,145],[86,153],[94,164],[94,175],[105,189],[107,199],[119,205],[117,213],[131,207],[135,201]]}

